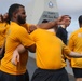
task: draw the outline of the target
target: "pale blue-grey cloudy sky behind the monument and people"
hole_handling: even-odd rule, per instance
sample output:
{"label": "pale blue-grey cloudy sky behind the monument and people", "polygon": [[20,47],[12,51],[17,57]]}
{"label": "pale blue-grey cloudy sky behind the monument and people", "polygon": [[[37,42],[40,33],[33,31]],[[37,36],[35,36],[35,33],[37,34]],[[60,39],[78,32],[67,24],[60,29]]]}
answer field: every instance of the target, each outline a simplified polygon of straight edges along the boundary
{"label": "pale blue-grey cloudy sky behind the monument and people", "polygon": [[[20,3],[27,5],[32,0],[0,0],[0,13],[4,14],[12,3]],[[50,0],[51,1],[51,0]],[[70,15],[72,17],[68,32],[72,32],[79,28],[78,17],[82,15],[82,0],[57,0],[59,15]]]}

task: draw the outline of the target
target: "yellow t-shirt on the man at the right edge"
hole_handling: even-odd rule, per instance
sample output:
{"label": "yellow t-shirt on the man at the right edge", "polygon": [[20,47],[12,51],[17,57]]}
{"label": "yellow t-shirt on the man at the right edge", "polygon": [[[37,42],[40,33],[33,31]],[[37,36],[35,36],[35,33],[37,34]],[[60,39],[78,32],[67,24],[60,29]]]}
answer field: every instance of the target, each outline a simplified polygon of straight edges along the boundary
{"label": "yellow t-shirt on the man at the right edge", "polygon": [[[68,42],[71,51],[82,53],[82,28],[71,33]],[[82,58],[71,58],[71,67],[82,68]]]}

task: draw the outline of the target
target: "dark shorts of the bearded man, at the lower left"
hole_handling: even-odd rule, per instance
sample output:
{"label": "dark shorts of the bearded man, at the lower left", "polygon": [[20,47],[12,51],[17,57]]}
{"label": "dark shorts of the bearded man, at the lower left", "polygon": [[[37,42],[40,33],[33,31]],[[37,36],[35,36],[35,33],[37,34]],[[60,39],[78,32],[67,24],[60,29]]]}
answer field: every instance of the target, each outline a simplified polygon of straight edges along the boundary
{"label": "dark shorts of the bearded man, at the lower left", "polygon": [[0,81],[29,81],[28,71],[24,75],[10,75],[3,71],[0,71]]}

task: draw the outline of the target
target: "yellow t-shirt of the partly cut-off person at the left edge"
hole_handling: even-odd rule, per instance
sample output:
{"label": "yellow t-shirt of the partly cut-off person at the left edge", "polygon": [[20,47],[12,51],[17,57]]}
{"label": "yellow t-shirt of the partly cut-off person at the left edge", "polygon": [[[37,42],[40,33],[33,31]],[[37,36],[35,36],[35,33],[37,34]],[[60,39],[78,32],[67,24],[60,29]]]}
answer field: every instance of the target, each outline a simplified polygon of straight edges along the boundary
{"label": "yellow t-shirt of the partly cut-off person at the left edge", "polygon": [[2,48],[6,33],[9,29],[9,24],[6,23],[0,23],[0,48]]}

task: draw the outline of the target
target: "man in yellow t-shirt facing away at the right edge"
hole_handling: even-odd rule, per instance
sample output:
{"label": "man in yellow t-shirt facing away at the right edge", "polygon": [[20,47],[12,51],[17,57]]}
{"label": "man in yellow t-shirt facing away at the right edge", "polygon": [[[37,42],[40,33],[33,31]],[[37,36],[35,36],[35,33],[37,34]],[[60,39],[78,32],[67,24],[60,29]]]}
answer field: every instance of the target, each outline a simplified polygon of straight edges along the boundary
{"label": "man in yellow t-shirt facing away at the right edge", "polygon": [[[71,33],[68,46],[71,51],[82,53],[82,15],[79,16],[80,29]],[[82,81],[82,58],[70,58],[76,81]]]}

